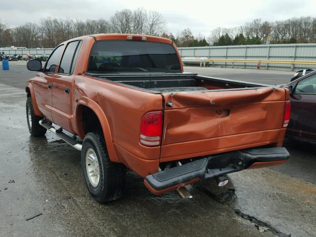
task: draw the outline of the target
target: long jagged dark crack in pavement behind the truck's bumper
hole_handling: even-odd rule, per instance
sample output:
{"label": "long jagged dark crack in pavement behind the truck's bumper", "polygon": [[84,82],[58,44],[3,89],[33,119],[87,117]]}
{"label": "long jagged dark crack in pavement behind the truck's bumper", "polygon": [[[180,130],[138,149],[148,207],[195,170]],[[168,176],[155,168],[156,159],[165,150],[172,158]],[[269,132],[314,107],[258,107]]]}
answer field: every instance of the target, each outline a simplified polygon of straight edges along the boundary
{"label": "long jagged dark crack in pavement behind the truck's bumper", "polygon": [[203,192],[207,196],[211,197],[213,200],[217,201],[218,203],[220,203],[222,205],[229,206],[232,210],[234,210],[234,212],[238,216],[240,216],[241,218],[243,218],[245,220],[250,221],[251,223],[254,223],[257,228],[258,228],[258,226],[268,228],[267,230],[271,231],[273,234],[275,234],[275,235],[277,235],[279,237],[291,237],[291,234],[289,234],[289,235],[284,234],[284,233],[280,232],[279,230],[277,230],[276,228],[274,228],[273,226],[269,225],[268,223],[266,223],[264,221],[261,221],[261,220],[257,219],[254,216],[250,216],[248,214],[245,214],[245,213],[241,212],[239,209],[233,208],[230,205],[230,202],[234,201],[235,198],[236,198],[235,189],[228,189],[227,191],[216,195],[216,194],[213,194],[212,192],[210,192],[209,190],[207,190],[204,187],[195,186],[195,188],[197,188],[198,190],[200,190],[201,192]]}

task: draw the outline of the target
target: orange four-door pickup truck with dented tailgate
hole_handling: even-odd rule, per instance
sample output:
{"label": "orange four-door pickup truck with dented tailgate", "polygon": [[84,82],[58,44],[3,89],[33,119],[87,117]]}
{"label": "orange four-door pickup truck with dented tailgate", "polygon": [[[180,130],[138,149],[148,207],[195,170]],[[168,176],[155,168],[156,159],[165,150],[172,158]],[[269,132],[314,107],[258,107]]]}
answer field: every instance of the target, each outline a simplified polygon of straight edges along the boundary
{"label": "orange four-door pickup truck with dented tailgate", "polygon": [[[121,197],[126,167],[154,194],[285,162],[286,88],[183,72],[174,42],[100,34],[58,45],[26,83],[32,136],[47,130],[81,151],[99,202]],[[60,154],[62,156],[62,154]]]}

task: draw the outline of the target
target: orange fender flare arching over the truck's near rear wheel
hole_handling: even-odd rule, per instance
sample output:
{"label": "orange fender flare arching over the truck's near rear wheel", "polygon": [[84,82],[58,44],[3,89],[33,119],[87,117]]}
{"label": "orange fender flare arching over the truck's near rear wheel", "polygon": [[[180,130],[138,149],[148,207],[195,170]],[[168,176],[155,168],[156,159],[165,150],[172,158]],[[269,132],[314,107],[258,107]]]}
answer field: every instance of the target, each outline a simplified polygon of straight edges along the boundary
{"label": "orange fender flare arching over the truck's near rear wheel", "polygon": [[101,107],[99,106],[99,104],[97,104],[95,101],[87,98],[87,97],[81,97],[78,100],[77,106],[76,106],[76,127],[78,129],[78,134],[80,137],[84,137],[84,131],[82,130],[82,125],[79,124],[79,115],[78,115],[78,111],[79,111],[79,106],[83,105],[85,107],[88,107],[89,109],[91,109],[94,114],[97,116],[97,118],[99,119],[99,122],[101,124],[102,127],[102,131],[104,134],[104,140],[105,140],[105,144],[107,146],[107,150],[109,153],[109,158],[112,162],[119,162],[121,163],[121,161],[118,158],[118,155],[115,151],[114,148],[114,144],[113,144],[113,139],[112,139],[112,134],[111,134],[111,130],[110,130],[110,125],[108,122],[108,119],[106,117],[106,115],[104,114],[103,110],[101,109]]}

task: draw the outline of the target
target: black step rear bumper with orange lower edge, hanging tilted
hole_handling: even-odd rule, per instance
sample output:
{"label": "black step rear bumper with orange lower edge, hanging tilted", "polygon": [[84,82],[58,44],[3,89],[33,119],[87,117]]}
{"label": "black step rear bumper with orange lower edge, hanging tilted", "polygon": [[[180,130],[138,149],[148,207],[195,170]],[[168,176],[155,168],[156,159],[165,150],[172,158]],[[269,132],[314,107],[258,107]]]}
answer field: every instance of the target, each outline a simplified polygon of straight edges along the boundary
{"label": "black step rear bumper with orange lower edge, hanging tilted", "polygon": [[248,167],[276,165],[290,154],[284,147],[257,148],[202,157],[184,165],[146,176],[145,186],[159,195],[198,181],[237,172]]}

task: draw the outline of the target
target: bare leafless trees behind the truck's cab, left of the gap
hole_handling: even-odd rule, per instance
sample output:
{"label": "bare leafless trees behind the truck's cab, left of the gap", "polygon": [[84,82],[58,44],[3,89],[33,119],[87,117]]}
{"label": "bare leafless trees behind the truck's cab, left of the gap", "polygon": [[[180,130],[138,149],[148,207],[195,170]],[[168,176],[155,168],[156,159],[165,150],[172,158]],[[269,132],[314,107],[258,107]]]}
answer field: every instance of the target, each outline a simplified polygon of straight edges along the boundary
{"label": "bare leafless trees behind the truck's cab, left of the gap", "polygon": [[163,16],[144,8],[117,11],[109,20],[72,20],[52,17],[41,18],[40,23],[28,22],[9,28],[0,21],[0,47],[12,45],[27,48],[54,48],[72,38],[100,33],[130,33],[160,36],[166,29]]}

